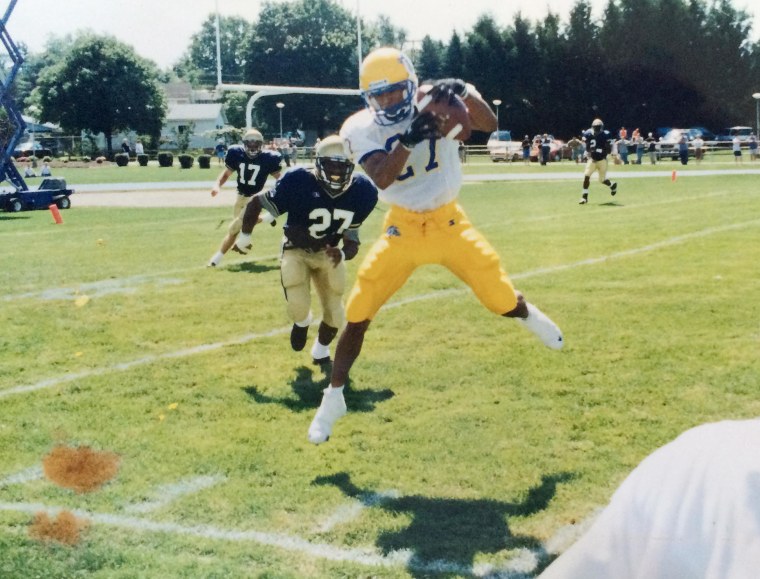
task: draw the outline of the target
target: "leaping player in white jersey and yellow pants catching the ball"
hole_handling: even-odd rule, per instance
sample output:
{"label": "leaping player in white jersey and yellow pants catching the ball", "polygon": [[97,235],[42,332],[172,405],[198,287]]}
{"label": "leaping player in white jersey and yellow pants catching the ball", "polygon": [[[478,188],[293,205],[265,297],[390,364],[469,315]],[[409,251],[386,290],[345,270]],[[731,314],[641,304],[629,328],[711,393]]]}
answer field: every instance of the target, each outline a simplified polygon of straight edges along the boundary
{"label": "leaping player in white jersey and yellow pants catching the ball", "polygon": [[[432,84],[436,101],[450,102],[453,95],[464,100],[473,129],[496,130],[496,116],[475,87],[459,79]],[[366,108],[349,117],[340,133],[390,210],[346,306],[348,323],[335,350],[330,386],[309,427],[315,444],[325,442],[346,413],[343,387],[370,321],[418,266],[447,267],[489,310],[520,320],[550,348],[562,347],[559,328],[515,291],[496,251],[457,203],[458,143],[441,138],[432,113],[416,110],[418,81],[409,58],[394,48],[371,52],[361,66],[360,86]]]}

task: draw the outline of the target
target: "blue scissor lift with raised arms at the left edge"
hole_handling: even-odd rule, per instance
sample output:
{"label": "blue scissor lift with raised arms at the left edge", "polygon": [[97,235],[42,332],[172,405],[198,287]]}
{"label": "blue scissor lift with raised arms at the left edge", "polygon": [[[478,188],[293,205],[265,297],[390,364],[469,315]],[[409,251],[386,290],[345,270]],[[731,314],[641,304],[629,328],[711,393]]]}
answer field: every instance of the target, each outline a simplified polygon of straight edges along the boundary
{"label": "blue scissor lift with raised arms at the left edge", "polygon": [[65,180],[45,179],[40,183],[37,190],[30,191],[24,178],[11,160],[16,144],[23,136],[26,128],[21,112],[16,107],[16,100],[11,94],[11,86],[21,64],[24,62],[24,58],[5,27],[13,8],[16,6],[16,1],[11,0],[5,15],[0,20],[0,42],[2,42],[11,62],[8,74],[0,79],[0,106],[5,109],[9,126],[14,128],[8,141],[0,144],[2,146],[2,150],[0,150],[0,182],[7,181],[13,187],[13,191],[0,192],[0,209],[10,212],[25,209],[47,209],[51,204],[55,204],[61,209],[68,209],[71,206],[69,196],[74,191],[66,188]]}

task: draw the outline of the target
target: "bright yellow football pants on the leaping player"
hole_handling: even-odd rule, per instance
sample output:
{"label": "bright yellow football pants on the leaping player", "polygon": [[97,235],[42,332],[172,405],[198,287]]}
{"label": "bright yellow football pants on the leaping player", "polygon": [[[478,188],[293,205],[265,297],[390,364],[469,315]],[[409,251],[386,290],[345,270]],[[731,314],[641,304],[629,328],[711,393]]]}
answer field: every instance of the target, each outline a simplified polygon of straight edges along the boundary
{"label": "bright yellow football pants on the leaping player", "polygon": [[383,230],[359,268],[346,306],[349,322],[372,319],[412,272],[426,264],[448,268],[496,314],[517,305],[515,289],[498,254],[458,203],[424,213],[392,206]]}

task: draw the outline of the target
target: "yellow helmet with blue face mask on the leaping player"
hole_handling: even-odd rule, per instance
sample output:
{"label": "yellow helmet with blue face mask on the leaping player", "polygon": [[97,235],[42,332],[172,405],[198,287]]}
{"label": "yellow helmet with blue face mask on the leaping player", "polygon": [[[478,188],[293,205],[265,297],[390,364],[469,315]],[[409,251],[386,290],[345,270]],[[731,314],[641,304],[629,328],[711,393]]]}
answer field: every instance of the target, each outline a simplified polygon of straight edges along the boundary
{"label": "yellow helmet with blue face mask on the leaping player", "polygon": [[[359,71],[362,98],[379,125],[395,125],[412,113],[418,84],[412,61],[395,48],[373,50],[364,59]],[[403,91],[400,102],[383,107],[377,101],[378,95],[396,90]]]}

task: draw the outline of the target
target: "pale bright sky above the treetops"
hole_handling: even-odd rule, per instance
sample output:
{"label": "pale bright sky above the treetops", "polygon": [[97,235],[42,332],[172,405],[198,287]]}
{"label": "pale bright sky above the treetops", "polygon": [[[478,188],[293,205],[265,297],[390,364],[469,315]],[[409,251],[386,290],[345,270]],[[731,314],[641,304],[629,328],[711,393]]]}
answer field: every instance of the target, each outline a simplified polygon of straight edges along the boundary
{"label": "pale bright sky above the treetops", "polygon": [[[285,0],[274,0],[275,2]],[[347,10],[358,9],[365,21],[380,15],[408,32],[410,40],[429,34],[448,41],[451,33],[470,30],[482,14],[507,26],[517,12],[529,20],[543,20],[549,9],[567,22],[575,0],[338,0]],[[593,15],[601,17],[607,0],[592,0]],[[162,69],[177,62],[209,14],[258,19],[262,0],[19,0],[6,27],[11,38],[41,52],[50,35],[81,29],[110,34]],[[8,1],[0,4],[3,11]],[[734,0],[754,22],[753,40],[760,38],[760,0]],[[4,14],[4,12],[3,12]]]}

